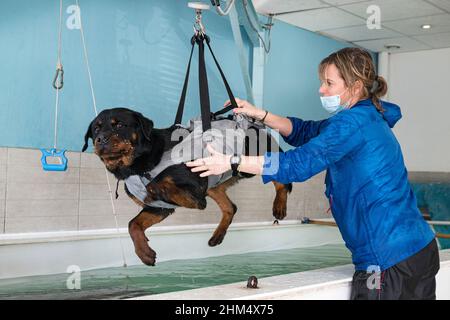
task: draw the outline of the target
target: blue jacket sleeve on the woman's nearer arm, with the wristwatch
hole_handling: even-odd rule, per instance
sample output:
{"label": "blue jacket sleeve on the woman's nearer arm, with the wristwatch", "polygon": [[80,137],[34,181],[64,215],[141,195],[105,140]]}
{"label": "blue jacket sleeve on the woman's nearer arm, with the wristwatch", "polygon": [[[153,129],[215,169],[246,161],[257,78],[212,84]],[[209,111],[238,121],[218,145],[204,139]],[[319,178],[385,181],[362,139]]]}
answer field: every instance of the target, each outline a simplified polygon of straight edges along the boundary
{"label": "blue jacket sleeve on the woman's nearer arm, with the wristwatch", "polygon": [[287,152],[267,152],[264,155],[263,183],[302,182],[342,159],[363,142],[355,121],[333,121],[320,135],[301,147]]}

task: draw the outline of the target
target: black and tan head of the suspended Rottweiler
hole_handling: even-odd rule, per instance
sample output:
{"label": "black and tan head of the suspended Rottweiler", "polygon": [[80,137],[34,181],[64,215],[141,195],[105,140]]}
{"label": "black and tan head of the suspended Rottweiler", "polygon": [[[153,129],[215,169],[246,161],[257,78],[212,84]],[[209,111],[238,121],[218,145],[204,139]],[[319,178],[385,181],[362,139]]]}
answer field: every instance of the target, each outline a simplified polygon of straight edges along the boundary
{"label": "black and tan head of the suspended Rottweiler", "polygon": [[109,171],[130,167],[151,143],[153,122],[141,113],[114,108],[103,110],[90,123],[84,136],[84,152],[89,139],[94,151]]}

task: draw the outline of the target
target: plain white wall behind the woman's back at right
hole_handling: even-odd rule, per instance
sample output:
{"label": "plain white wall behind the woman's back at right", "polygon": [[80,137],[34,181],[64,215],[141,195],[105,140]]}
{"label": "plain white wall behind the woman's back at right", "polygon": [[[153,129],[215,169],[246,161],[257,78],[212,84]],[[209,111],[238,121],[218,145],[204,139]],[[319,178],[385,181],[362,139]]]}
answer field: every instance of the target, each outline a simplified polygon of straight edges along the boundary
{"label": "plain white wall behind the woman's back at right", "polygon": [[388,77],[408,170],[450,172],[450,49],[391,54]]}

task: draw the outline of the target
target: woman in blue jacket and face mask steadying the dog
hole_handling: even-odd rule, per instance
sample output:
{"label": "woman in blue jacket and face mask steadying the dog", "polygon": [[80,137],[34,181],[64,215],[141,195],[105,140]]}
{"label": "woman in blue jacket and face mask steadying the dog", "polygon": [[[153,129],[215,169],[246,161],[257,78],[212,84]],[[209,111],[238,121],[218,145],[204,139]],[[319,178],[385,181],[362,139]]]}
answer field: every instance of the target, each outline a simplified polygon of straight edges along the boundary
{"label": "woman in blue jacket and face mask steadying the dog", "polygon": [[[319,66],[322,121],[280,117],[237,99],[235,113],[264,121],[296,149],[242,156],[238,171],[261,174],[264,183],[305,181],[327,170],[325,194],[355,274],[351,299],[435,299],[439,253],[434,233],[417,208],[400,145],[391,128],[400,108],[381,101],[386,81],[369,53],[345,48]],[[230,170],[230,156],[187,163],[201,176]],[[271,159],[278,157],[277,170]]]}

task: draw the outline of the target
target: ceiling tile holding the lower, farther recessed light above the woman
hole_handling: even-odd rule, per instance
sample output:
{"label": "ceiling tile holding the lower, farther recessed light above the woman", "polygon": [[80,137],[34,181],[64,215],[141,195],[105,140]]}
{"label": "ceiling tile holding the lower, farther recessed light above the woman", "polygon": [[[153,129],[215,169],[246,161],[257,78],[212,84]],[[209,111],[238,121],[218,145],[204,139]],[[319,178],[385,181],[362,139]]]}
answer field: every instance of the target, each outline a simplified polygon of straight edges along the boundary
{"label": "ceiling tile holding the lower, farther recessed light above the woman", "polygon": [[[363,48],[372,50],[374,52],[406,52],[406,51],[419,51],[419,50],[427,50],[432,47],[426,45],[422,42],[414,40],[412,38],[403,37],[403,38],[391,38],[391,39],[379,39],[379,40],[368,40],[368,41],[356,41],[356,45],[359,45]],[[385,48],[386,45],[400,45],[400,49],[398,50],[388,50]]]}

